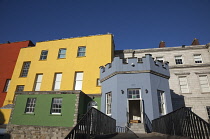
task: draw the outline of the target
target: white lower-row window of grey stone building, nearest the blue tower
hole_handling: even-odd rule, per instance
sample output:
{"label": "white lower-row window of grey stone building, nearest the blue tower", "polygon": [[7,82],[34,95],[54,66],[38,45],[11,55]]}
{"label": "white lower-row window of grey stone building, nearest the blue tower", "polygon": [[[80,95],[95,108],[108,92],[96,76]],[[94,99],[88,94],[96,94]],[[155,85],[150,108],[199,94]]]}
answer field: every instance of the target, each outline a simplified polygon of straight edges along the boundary
{"label": "white lower-row window of grey stone building, nearest the blue tower", "polygon": [[178,78],[181,93],[190,93],[187,76],[179,76]]}

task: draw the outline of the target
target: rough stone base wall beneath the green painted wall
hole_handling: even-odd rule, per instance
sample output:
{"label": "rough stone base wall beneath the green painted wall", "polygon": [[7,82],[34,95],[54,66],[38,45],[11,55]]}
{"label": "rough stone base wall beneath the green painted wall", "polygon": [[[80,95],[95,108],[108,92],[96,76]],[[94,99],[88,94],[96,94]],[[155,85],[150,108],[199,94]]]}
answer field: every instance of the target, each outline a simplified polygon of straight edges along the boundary
{"label": "rough stone base wall beneath the green painted wall", "polygon": [[11,139],[63,139],[72,127],[9,125]]}

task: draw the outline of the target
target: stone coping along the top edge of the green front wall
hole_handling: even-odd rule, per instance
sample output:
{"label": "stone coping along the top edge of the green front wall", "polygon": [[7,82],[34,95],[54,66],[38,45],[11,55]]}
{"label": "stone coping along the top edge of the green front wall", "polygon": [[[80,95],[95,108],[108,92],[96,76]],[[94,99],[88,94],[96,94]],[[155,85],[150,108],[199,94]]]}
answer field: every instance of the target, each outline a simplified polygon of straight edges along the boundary
{"label": "stone coping along the top edge of the green front wall", "polygon": [[38,95],[38,94],[79,94],[80,90],[69,90],[69,91],[23,91],[15,92],[16,95]]}

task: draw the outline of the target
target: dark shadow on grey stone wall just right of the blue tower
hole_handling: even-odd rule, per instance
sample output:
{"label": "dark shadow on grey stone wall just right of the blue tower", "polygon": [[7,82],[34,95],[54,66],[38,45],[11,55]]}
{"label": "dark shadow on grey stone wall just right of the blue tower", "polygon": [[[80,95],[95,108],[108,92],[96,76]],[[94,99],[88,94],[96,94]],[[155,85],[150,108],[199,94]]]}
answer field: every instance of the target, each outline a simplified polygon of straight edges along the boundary
{"label": "dark shadow on grey stone wall just right of the blue tower", "polygon": [[181,107],[185,107],[184,96],[175,94],[174,90],[170,90],[170,92],[171,92],[171,101],[172,101],[173,111]]}

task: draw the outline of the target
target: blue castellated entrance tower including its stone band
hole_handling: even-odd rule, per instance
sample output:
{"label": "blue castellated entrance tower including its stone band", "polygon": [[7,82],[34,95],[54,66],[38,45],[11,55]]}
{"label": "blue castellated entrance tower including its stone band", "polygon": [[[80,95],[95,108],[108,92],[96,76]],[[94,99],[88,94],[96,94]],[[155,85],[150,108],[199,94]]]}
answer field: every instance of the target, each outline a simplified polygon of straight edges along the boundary
{"label": "blue castellated entrance tower including its stone band", "polygon": [[[153,120],[161,116],[157,95],[157,91],[161,90],[164,92],[164,114],[167,114],[172,111],[169,77],[168,62],[154,61],[150,54],[146,54],[141,60],[128,58],[127,63],[115,57],[112,63],[100,67],[101,111],[107,113],[106,93],[111,93],[110,116],[116,119],[117,126],[126,126],[130,122],[131,106],[135,110],[140,109],[141,114],[144,111]],[[140,98],[128,98],[129,89],[139,89]],[[140,100],[140,106],[138,103],[131,104],[133,100]],[[143,122],[142,115],[140,118]]]}

